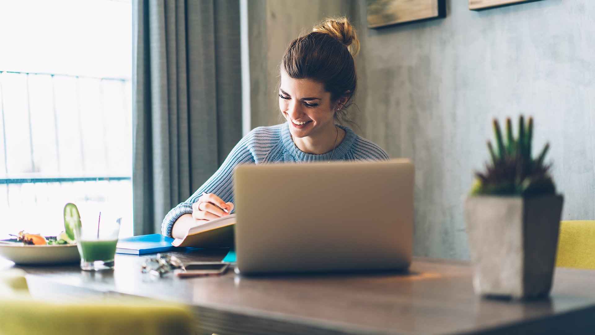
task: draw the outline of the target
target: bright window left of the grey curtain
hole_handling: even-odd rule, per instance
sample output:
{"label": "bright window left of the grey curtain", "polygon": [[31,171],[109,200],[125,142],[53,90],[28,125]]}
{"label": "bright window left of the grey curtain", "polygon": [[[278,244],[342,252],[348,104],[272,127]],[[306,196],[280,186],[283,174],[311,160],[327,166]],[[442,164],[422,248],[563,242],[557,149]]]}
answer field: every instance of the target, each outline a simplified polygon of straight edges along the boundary
{"label": "bright window left of the grey curtain", "polygon": [[55,235],[62,209],[132,235],[131,3],[0,2],[0,237]]}

